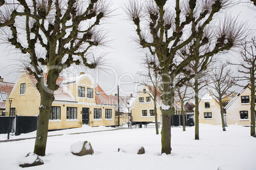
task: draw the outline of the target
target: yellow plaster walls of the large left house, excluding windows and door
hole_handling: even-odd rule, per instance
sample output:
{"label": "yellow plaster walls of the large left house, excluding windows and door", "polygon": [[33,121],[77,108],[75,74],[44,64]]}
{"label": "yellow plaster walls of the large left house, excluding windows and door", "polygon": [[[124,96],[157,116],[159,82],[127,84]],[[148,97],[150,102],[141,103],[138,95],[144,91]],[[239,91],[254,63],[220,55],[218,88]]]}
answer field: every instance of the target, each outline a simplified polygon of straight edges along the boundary
{"label": "yellow plaster walls of the large left house, excluding windows and door", "polygon": [[[25,83],[25,95],[20,95],[20,84]],[[85,86],[85,98],[78,97],[78,86]],[[87,87],[93,88],[93,98],[87,98]],[[82,108],[89,108],[90,126],[113,126],[115,125],[115,105],[96,105],[95,102],[95,86],[86,77],[78,83],[68,85],[68,91],[75,96],[78,102],[68,101],[53,101],[52,106],[60,107],[60,120],[50,120],[49,129],[65,129],[65,128],[78,128],[82,126]],[[13,90],[11,91],[10,98],[13,98],[11,108],[15,108],[15,113],[22,116],[38,115],[40,105],[40,95],[36,88],[32,85],[29,77],[25,72],[22,72],[18,81],[16,82]],[[6,101],[6,108],[10,105]],[[77,119],[66,119],[67,107],[77,108]],[[94,119],[94,108],[101,108],[102,119]],[[105,119],[105,109],[112,110],[112,119]],[[9,109],[8,109],[9,110]],[[9,112],[6,114],[9,115]]]}

